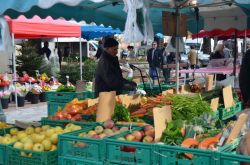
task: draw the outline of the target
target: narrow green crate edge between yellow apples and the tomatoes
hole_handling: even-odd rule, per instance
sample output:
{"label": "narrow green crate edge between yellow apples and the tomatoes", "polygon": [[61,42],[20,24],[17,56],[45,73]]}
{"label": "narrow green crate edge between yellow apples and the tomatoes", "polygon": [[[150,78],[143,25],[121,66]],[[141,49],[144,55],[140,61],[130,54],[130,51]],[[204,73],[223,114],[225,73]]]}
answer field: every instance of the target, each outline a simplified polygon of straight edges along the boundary
{"label": "narrow green crate edge between yellow apples and the tomatoes", "polygon": [[41,120],[42,125],[51,125],[51,126],[65,127],[69,123],[79,125],[82,128],[86,128],[86,129],[93,128],[93,126],[97,125],[97,123],[95,123],[95,122],[80,122],[80,121],[72,121],[72,120],[53,120],[53,119],[48,119],[47,117],[43,117]]}

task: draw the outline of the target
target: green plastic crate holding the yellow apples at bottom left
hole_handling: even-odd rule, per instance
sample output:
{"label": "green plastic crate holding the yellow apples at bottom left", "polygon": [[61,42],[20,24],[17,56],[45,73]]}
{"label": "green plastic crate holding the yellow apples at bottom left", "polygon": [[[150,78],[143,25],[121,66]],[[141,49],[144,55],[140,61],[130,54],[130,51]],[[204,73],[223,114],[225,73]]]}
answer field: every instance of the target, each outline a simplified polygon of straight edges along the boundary
{"label": "green plastic crate holding the yellow apples at bottom left", "polygon": [[57,151],[35,152],[7,146],[9,165],[56,165]]}

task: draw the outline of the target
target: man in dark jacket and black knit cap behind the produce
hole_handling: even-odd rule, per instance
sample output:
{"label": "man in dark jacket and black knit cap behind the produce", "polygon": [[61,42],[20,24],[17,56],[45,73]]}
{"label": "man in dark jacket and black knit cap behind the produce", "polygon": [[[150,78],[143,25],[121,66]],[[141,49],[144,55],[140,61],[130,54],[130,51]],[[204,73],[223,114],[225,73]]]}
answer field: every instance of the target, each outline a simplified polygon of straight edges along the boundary
{"label": "man in dark jacket and black knit cap behind the produce", "polygon": [[136,83],[122,77],[119,65],[118,53],[119,43],[114,38],[107,38],[104,42],[104,51],[97,65],[95,76],[95,96],[100,92],[116,91],[119,95],[123,90],[135,90]]}

